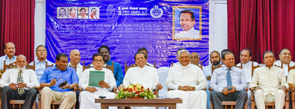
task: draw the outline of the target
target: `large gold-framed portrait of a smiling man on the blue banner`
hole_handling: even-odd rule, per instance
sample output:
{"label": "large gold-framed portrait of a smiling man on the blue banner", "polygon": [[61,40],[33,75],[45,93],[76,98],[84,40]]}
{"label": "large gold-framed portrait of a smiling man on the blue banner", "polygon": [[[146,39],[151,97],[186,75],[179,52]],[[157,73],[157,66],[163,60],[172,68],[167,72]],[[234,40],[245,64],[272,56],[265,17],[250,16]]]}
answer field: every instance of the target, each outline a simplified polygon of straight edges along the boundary
{"label": "large gold-framed portrait of a smiling man on the blue banner", "polygon": [[173,40],[202,40],[202,7],[173,6]]}

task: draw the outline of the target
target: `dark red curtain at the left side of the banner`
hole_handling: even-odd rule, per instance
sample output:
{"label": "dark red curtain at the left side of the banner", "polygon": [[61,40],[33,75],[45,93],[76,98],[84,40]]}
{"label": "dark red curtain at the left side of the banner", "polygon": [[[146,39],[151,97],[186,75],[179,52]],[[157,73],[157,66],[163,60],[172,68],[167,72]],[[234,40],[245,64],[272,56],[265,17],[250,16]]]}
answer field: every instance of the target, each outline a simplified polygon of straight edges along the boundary
{"label": "dark red curtain at the left side of the banner", "polygon": [[34,15],[35,0],[0,0],[0,56],[4,55],[4,44],[13,42],[15,55],[34,60]]}

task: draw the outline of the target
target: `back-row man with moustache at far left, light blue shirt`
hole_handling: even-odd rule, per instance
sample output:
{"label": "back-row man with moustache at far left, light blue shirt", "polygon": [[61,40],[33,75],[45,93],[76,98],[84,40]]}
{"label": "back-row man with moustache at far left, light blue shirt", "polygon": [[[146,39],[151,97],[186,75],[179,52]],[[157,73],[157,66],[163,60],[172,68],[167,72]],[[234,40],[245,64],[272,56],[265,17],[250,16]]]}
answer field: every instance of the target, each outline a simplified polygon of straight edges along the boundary
{"label": "back-row man with moustache at far left, light blue shirt", "polygon": [[0,70],[3,69],[4,60],[6,61],[5,64],[8,65],[16,61],[15,54],[15,45],[12,42],[7,42],[4,45],[4,53],[5,55],[0,57]]}

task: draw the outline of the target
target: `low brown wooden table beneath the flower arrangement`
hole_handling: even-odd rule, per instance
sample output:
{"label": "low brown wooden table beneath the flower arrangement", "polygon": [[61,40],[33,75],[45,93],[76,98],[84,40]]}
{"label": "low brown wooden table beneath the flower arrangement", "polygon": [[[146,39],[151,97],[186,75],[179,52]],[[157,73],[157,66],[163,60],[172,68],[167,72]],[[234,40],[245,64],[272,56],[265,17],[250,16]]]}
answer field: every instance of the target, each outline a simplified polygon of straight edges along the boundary
{"label": "low brown wooden table beneath the flower arrangement", "polygon": [[169,107],[169,109],[176,109],[176,104],[182,103],[182,99],[95,99],[95,103],[101,103],[101,109],[108,107]]}

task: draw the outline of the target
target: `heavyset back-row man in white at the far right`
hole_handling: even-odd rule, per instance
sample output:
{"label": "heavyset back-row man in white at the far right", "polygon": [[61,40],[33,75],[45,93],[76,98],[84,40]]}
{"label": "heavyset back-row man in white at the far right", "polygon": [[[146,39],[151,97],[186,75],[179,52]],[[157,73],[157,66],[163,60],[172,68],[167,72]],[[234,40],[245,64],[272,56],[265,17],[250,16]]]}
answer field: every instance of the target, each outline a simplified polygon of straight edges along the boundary
{"label": "heavyset back-row man in white at the far right", "polygon": [[282,49],[279,54],[280,60],[275,61],[273,64],[280,66],[283,63],[283,70],[284,70],[284,75],[287,77],[288,76],[288,64],[290,67],[295,65],[295,62],[291,61],[292,56],[291,52],[288,49]]}

